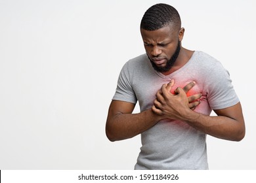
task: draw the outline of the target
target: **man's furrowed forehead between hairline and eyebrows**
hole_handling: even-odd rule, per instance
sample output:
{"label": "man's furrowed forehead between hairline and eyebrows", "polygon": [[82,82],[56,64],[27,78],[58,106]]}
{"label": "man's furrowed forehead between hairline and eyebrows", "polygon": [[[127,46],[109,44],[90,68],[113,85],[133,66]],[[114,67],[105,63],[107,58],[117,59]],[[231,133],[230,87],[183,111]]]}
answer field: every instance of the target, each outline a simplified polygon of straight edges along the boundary
{"label": "man's furrowed forehead between hairline and eyebrows", "polygon": [[154,41],[154,42],[163,42],[163,41],[172,41],[177,39],[179,36],[179,31],[174,30],[170,26],[162,27],[156,31],[147,31],[145,29],[140,29],[140,33],[143,41]]}

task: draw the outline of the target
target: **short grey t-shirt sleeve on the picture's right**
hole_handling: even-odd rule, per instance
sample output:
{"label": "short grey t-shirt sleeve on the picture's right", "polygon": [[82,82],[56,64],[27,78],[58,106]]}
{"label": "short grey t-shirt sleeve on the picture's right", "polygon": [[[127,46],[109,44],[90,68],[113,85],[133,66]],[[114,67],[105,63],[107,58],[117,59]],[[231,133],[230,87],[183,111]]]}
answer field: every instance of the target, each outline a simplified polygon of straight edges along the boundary
{"label": "short grey t-shirt sleeve on the picture's right", "polygon": [[207,99],[212,109],[231,107],[239,102],[238,96],[232,86],[232,80],[221,63],[216,63],[209,75],[205,76]]}

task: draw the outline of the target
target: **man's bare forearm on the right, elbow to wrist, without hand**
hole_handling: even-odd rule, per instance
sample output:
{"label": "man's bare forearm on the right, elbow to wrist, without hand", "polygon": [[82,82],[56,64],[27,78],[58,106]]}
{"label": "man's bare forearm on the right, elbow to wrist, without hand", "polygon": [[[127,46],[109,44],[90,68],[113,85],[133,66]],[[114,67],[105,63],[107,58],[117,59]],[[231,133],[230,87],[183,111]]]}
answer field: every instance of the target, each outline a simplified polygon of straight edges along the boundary
{"label": "man's bare forearm on the right, elbow to wrist, without hand", "polygon": [[219,139],[241,141],[245,135],[244,123],[226,116],[206,116],[192,111],[187,124]]}

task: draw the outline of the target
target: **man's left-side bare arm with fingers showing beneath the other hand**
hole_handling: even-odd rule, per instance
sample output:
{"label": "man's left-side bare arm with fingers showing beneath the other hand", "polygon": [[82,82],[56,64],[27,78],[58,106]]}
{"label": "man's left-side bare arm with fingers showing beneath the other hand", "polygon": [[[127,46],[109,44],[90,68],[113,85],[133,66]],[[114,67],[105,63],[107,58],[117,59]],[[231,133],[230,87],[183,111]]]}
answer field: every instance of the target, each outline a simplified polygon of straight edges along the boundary
{"label": "man's left-side bare arm with fingers showing beneath the other hand", "polygon": [[[166,84],[165,90],[170,91],[173,84],[173,81]],[[183,88],[185,95],[194,85],[194,82],[190,82]],[[186,97],[188,107],[194,110],[194,108],[200,104],[200,101],[197,101],[200,97],[201,94]],[[152,108],[138,114],[131,114],[134,108],[135,104],[133,103],[112,101],[106,121],[106,135],[110,141],[119,141],[135,137],[143,131],[150,129],[150,127],[157,124],[163,118],[163,116],[152,112]]]}

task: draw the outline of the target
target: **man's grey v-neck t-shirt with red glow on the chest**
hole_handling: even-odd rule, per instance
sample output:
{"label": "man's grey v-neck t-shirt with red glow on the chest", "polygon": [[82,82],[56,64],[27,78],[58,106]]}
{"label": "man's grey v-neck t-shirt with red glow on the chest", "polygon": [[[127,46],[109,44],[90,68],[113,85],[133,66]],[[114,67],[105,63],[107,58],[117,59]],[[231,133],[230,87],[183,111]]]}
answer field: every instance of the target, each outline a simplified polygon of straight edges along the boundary
{"label": "man's grey v-neck t-shirt with red glow on the chest", "polygon": [[[215,58],[196,51],[181,69],[162,75],[156,72],[146,54],[125,63],[117,82],[113,100],[137,103],[140,110],[151,108],[156,92],[174,79],[178,86],[195,81],[187,95],[202,93],[194,111],[210,115],[212,109],[231,107],[239,99],[228,71]],[[142,146],[135,169],[208,169],[206,135],[180,120],[161,120],[141,133]]]}

